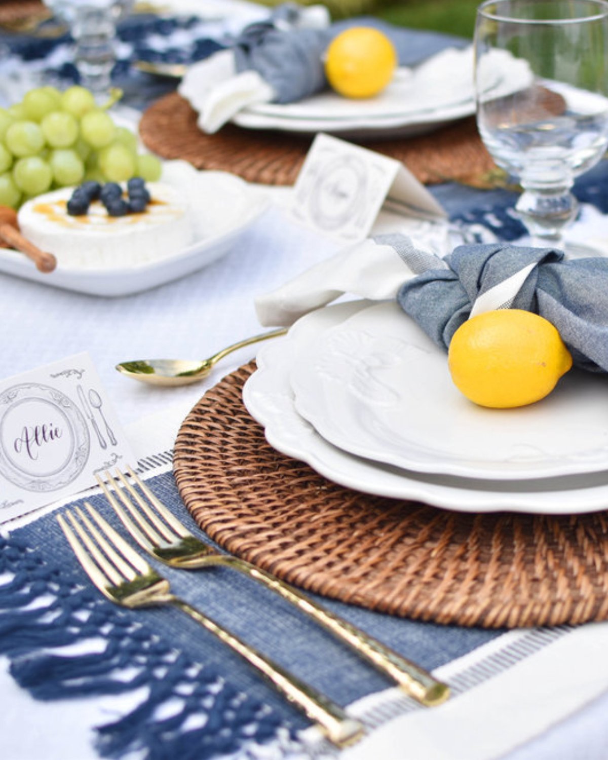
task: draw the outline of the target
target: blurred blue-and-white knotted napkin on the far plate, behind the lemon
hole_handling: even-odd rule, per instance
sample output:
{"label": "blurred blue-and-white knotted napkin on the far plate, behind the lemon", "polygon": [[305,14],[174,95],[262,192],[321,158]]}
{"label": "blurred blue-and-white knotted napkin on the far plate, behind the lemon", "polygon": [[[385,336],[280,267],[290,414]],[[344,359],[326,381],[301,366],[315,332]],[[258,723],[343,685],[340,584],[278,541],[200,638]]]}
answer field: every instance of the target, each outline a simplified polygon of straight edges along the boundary
{"label": "blurred blue-and-white knotted napkin on the far plate, behind the lemon", "polygon": [[375,27],[397,50],[400,66],[429,59],[466,40],[394,27],[359,17],[330,24],[325,6],[285,3],[267,21],[245,27],[229,49],[193,65],[178,91],[198,111],[198,126],[215,132],[246,106],[294,103],[327,87],[323,55],[334,36],[353,26]]}

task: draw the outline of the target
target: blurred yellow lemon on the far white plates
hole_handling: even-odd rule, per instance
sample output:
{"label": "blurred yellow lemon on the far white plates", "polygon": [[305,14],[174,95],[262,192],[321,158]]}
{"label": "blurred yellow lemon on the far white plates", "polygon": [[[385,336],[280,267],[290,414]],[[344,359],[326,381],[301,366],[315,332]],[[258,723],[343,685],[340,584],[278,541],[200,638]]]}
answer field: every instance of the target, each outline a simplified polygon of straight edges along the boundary
{"label": "blurred yellow lemon on the far white plates", "polygon": [[340,95],[365,98],[384,90],[397,66],[388,37],[372,27],[351,27],[328,47],[325,74]]}

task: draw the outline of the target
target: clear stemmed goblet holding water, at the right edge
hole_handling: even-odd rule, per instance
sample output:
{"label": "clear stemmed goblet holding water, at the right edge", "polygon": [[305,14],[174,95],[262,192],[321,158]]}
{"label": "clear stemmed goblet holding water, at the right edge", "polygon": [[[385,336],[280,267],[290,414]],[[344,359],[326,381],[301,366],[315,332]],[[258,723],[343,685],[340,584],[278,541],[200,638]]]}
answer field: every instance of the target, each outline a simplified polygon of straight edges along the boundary
{"label": "clear stemmed goblet holding water, at the right edge", "polygon": [[483,143],[524,191],[518,216],[537,245],[563,248],[575,178],[608,145],[608,2],[487,0],[475,84]]}

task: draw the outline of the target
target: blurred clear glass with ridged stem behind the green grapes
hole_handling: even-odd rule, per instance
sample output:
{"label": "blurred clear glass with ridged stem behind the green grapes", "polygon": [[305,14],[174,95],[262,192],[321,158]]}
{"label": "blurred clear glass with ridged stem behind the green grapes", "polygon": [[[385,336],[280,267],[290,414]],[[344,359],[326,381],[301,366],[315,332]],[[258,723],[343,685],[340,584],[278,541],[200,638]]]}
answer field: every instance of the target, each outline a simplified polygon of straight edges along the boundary
{"label": "blurred clear glass with ridged stem behind the green grapes", "polygon": [[116,63],[116,24],[133,0],[45,0],[45,5],[70,28],[81,84],[105,97]]}

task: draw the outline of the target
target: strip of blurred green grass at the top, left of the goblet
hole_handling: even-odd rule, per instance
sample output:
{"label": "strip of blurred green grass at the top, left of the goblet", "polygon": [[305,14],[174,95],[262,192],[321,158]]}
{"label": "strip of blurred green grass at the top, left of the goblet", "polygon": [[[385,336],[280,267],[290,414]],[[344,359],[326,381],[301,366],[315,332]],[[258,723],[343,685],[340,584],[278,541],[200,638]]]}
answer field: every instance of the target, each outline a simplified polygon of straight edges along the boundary
{"label": "strip of blurred green grass at the top, left of the goblet", "polygon": [[[283,0],[258,0],[279,5]],[[315,5],[319,0],[298,0]],[[372,15],[413,29],[432,29],[463,37],[473,37],[475,12],[480,0],[321,0],[334,19]]]}

